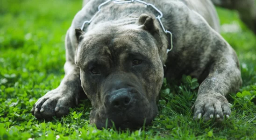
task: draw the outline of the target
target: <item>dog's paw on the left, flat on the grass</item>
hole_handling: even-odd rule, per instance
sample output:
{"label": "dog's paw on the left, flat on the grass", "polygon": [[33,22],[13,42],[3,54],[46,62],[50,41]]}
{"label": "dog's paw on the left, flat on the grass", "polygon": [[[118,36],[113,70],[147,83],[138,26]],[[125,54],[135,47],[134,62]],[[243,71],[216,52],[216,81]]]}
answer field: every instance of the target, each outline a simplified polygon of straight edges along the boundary
{"label": "dog's paw on the left, flat on the grass", "polygon": [[37,119],[50,119],[53,116],[61,117],[69,113],[69,108],[77,104],[77,98],[69,91],[58,88],[47,92],[39,98],[31,112]]}

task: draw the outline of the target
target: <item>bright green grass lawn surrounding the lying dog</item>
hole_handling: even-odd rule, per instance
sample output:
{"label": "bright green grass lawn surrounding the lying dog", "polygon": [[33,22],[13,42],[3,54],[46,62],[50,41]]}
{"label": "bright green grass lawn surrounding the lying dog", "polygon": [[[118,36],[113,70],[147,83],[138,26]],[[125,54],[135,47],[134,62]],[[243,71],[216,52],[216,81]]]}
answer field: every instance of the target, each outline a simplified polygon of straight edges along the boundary
{"label": "bright green grass lawn surrounding the lying dog", "polygon": [[[218,8],[221,24],[242,30],[222,33],[241,63],[240,93],[228,96],[230,119],[221,124],[192,119],[197,82],[184,76],[182,85],[164,83],[159,115],[151,126],[136,131],[97,130],[89,125],[88,100],[67,117],[37,120],[30,110],[36,100],[64,77],[64,35],[82,0],[0,1],[0,140],[70,139],[250,139],[256,140],[256,36],[238,14]],[[175,93],[179,93],[174,96]]]}

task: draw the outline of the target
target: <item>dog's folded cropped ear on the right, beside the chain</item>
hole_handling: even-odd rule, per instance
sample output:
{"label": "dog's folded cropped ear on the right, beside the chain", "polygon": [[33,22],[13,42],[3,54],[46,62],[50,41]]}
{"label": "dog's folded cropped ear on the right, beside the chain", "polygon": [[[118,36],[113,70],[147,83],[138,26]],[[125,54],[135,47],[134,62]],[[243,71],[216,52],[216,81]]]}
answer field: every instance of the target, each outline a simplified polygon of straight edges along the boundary
{"label": "dog's folded cropped ear on the right, beside the chain", "polygon": [[142,26],[142,29],[149,31],[152,35],[155,33],[159,35],[159,29],[155,24],[155,20],[150,15],[141,14],[137,23],[139,26]]}

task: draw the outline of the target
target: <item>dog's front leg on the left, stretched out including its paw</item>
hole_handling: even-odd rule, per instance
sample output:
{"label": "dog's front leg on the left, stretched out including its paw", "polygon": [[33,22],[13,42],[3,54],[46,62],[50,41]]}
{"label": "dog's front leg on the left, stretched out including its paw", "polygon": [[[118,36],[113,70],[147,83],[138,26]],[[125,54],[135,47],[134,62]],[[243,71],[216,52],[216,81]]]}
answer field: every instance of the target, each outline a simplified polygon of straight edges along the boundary
{"label": "dog's front leg on the left, stretched out including its paw", "polygon": [[48,119],[53,116],[61,117],[69,113],[69,107],[78,104],[78,100],[86,97],[81,87],[80,69],[74,63],[74,50],[69,38],[69,31],[65,40],[66,63],[65,76],[60,85],[39,98],[31,112],[38,119]]}

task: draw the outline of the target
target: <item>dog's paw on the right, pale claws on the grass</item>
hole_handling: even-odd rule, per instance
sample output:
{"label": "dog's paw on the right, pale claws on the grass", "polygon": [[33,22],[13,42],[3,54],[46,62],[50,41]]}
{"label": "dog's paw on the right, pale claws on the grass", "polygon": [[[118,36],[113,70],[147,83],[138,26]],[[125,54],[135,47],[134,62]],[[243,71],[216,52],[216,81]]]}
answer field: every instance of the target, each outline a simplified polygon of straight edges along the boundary
{"label": "dog's paw on the right, pale claws on the grass", "polygon": [[199,95],[195,104],[192,106],[194,112],[194,120],[203,119],[208,121],[215,119],[217,122],[223,121],[223,119],[229,118],[231,110],[228,104],[228,100],[222,95]]}

